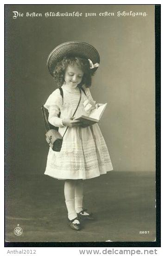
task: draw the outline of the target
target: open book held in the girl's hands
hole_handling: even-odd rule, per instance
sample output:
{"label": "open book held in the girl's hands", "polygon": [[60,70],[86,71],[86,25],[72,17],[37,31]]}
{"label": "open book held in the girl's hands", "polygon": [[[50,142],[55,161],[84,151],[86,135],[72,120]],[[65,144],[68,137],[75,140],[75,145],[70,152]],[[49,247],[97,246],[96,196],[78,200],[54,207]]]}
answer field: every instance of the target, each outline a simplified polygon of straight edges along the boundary
{"label": "open book held in the girl's hands", "polygon": [[83,123],[82,127],[90,126],[100,121],[100,118],[106,106],[107,106],[107,103],[102,104],[98,109],[93,109],[90,112],[90,115],[81,115],[79,117],[76,117],[74,120],[80,120]]}

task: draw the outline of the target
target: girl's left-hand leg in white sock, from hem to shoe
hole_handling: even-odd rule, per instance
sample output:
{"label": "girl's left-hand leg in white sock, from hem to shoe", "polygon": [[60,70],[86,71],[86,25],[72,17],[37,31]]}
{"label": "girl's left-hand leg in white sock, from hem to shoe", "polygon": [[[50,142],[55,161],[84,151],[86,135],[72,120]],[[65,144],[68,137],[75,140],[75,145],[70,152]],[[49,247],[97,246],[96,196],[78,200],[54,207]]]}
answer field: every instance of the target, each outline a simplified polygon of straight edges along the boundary
{"label": "girl's left-hand leg in white sock, from hem to shoe", "polygon": [[68,218],[70,220],[77,217],[77,213],[75,211],[75,180],[67,179],[64,185],[64,196],[65,203],[68,210]]}

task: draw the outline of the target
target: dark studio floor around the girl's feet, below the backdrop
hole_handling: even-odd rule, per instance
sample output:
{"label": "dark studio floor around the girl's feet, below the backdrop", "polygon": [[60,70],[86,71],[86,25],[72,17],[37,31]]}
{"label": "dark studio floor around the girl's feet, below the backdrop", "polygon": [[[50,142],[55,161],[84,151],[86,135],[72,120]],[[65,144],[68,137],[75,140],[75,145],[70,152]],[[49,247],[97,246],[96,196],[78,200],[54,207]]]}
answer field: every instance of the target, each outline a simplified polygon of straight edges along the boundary
{"label": "dark studio floor around the girl's feet, below the backdrop", "polygon": [[[5,241],[155,240],[155,173],[111,171],[85,180],[84,208],[94,213],[95,221],[83,222],[81,231],[67,224],[63,185],[44,174],[13,178],[6,189]],[[18,224],[20,236],[14,234]]]}

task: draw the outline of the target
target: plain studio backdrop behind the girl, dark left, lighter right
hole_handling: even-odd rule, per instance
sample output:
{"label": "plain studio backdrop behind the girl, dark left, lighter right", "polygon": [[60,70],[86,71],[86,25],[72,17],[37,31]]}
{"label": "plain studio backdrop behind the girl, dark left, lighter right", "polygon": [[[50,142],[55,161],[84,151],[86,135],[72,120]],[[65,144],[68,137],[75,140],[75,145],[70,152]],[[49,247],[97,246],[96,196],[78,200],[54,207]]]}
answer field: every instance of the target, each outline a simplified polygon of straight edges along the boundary
{"label": "plain studio backdrop behind the girl, dark left, lighter right", "polygon": [[[13,19],[13,11],[24,13],[24,17]],[[83,16],[44,16],[46,12],[73,11]],[[118,11],[147,15],[117,17]],[[26,16],[33,12],[42,13],[42,17]],[[115,14],[99,16],[105,12]],[[85,17],[84,13],[96,16]],[[73,40],[88,42],[100,54],[100,66],[90,90],[96,102],[108,103],[100,128],[114,171],[154,173],[154,6],[7,5],[7,181],[15,180],[17,175],[43,176],[49,147],[40,108],[57,89],[46,60],[57,45]],[[14,186],[14,182],[9,184]]]}

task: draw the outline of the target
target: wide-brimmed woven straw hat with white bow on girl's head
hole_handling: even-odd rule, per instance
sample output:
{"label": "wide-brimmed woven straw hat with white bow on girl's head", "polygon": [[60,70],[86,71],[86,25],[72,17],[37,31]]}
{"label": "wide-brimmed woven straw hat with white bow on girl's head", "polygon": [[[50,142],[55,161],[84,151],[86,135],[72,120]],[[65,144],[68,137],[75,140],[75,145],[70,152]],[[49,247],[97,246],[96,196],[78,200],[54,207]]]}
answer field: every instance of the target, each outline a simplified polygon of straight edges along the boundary
{"label": "wide-brimmed woven straw hat with white bow on girl's head", "polygon": [[97,70],[100,63],[99,53],[92,45],[80,41],[65,42],[54,48],[48,56],[47,67],[51,76],[53,76],[57,62],[66,55],[87,58],[92,73]]}

